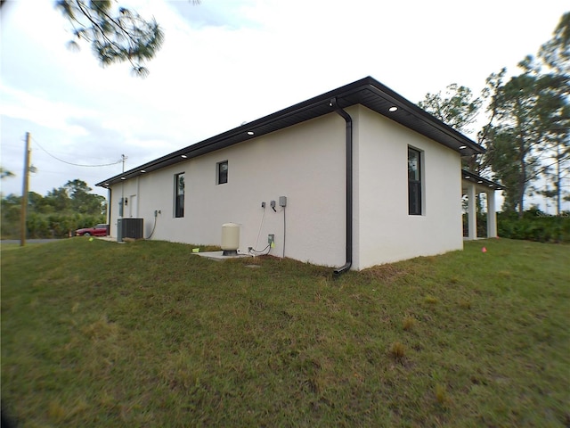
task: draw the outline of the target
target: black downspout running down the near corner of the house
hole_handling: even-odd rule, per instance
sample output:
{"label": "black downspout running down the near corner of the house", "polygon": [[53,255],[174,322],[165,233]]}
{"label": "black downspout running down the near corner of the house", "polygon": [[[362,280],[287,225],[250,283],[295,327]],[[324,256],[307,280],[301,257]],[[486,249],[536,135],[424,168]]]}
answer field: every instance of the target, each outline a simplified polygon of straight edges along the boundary
{"label": "black downspout running down the near corner of the house", "polygon": [[346,263],[333,271],[340,276],[353,266],[353,118],[338,106],[337,98],[329,105],[346,121]]}

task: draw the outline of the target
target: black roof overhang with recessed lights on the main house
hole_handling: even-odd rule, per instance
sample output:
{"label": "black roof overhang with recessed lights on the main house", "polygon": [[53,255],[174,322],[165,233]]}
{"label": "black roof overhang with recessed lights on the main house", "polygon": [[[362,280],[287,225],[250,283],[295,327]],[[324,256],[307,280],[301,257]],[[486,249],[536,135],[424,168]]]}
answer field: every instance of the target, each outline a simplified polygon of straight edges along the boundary
{"label": "black roof overhang with recessed lights on the main house", "polygon": [[264,118],[248,122],[217,136],[212,136],[199,143],[191,144],[155,161],[145,163],[115,177],[110,177],[101,183],[97,183],[97,185],[109,187],[110,185],[120,183],[121,180],[140,176],[156,169],[162,169],[208,152],[214,152],[258,136],[265,136],[265,134],[273,131],[329,114],[334,111],[330,103],[332,98],[336,98],[338,106],[343,109],[362,104],[406,128],[410,128],[423,136],[444,144],[456,152],[460,152],[461,156],[485,152],[483,147],[467,136],[463,136],[460,132],[445,125],[444,122],[436,119],[427,111],[421,110],[416,104],[403,98],[402,95],[396,94],[378,80],[368,77],[315,96],[303,103],[292,105]]}

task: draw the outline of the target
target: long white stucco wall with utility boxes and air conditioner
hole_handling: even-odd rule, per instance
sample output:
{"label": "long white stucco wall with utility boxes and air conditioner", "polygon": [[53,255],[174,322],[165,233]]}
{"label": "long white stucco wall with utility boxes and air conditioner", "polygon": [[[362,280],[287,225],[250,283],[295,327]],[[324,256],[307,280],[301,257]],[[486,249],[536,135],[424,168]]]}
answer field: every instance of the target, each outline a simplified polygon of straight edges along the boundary
{"label": "long white stucco wall with utility boxes and air conditioner", "polygon": [[[125,180],[112,187],[110,234],[117,235],[121,193],[137,202],[144,237],[179,243],[221,243],[222,225],[240,224],[240,251],[283,255],[283,212],[287,196],[285,256],[327,266],[345,263],[345,120],[332,112],[267,136]],[[228,183],[216,185],[216,163],[228,161]],[[184,172],[184,217],[174,217],[175,174]],[[137,181],[138,180],[138,181]],[[121,187],[123,186],[123,189]],[[278,212],[270,207],[276,201]],[[263,228],[259,233],[266,203]],[[128,206],[124,217],[129,217]],[[133,216],[135,217],[135,216]],[[257,235],[259,233],[259,242]]]}

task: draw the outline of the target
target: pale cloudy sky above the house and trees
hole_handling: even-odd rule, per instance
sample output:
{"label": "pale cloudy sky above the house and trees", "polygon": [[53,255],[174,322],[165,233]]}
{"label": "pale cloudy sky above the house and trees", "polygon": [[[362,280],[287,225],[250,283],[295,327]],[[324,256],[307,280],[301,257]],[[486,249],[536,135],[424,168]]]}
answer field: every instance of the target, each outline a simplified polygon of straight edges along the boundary
{"label": "pale cloudy sky above the house and trees", "polygon": [[[159,22],[165,45],[148,78],[70,52],[51,1],[1,10],[2,193],[21,193],[30,132],[30,190],[94,184],[265,114],[372,76],[414,103],[456,82],[476,93],[492,72],[550,39],[560,0],[121,0]],[[52,155],[52,156],[51,156]],[[53,156],[59,158],[57,161]],[[103,195],[103,189],[95,189]]]}

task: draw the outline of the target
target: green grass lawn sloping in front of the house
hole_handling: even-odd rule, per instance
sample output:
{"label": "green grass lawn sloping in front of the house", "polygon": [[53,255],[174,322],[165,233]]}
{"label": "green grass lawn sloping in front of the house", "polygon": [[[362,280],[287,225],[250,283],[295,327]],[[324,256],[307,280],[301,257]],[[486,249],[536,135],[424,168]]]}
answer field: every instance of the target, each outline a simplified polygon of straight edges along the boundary
{"label": "green grass lawn sloping in front of the house", "polygon": [[471,242],[338,279],[191,248],[3,246],[21,426],[570,426],[567,245]]}

